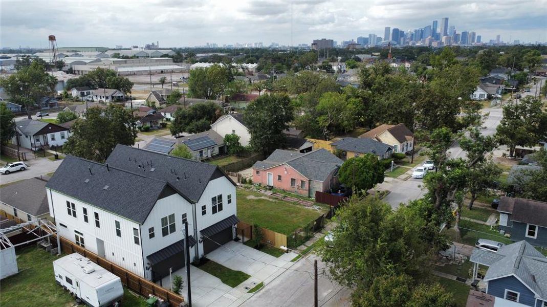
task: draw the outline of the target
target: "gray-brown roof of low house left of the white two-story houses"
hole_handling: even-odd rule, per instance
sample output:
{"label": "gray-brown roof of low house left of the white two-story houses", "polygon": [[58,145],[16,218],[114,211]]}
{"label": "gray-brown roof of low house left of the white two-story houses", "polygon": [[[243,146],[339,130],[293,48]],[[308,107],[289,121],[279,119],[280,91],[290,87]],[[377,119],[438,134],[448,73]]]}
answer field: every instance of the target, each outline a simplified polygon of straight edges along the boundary
{"label": "gray-brown roof of low house left of the white two-story houses", "polygon": [[1,201],[32,216],[48,213],[46,182],[44,179],[30,178],[8,184],[0,188]]}

